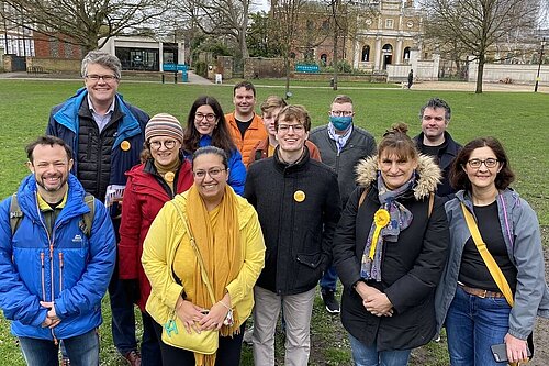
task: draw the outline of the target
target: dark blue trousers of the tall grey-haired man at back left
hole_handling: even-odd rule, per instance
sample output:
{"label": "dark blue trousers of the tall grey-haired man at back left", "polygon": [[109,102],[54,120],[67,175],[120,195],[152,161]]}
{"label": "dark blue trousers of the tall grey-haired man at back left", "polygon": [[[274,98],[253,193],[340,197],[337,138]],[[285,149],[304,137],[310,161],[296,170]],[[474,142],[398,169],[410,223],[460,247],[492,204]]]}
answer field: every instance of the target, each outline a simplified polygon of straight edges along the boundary
{"label": "dark blue trousers of the tall grey-haired man at back left", "polygon": [[134,304],[127,298],[124,286],[122,286],[122,281],[119,279],[117,260],[111,281],[109,282],[109,301],[111,303],[111,330],[114,346],[122,355],[131,351],[136,351],[137,340],[135,337]]}

